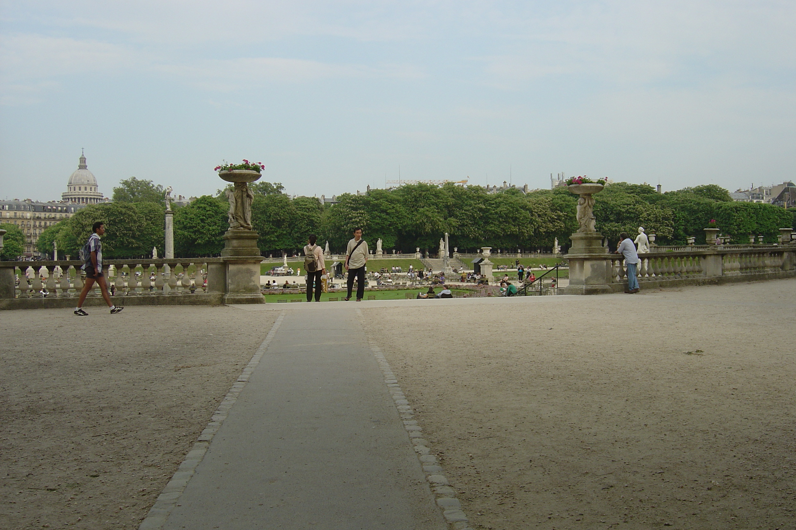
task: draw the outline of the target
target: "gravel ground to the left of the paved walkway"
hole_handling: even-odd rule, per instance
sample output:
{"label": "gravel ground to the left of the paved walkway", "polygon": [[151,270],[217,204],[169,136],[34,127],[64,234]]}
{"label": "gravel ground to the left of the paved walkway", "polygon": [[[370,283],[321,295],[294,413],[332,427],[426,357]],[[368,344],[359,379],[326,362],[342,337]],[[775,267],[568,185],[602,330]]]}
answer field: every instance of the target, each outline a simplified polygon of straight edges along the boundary
{"label": "gravel ground to the left of the paved walkway", "polygon": [[0,528],[138,528],[277,317],[0,313]]}

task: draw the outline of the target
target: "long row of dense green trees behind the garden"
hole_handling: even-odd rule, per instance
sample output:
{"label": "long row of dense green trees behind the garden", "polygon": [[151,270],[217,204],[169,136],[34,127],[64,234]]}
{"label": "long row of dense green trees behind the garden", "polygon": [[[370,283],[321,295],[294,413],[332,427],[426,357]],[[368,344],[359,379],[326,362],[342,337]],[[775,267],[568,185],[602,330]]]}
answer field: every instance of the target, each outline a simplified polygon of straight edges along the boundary
{"label": "long row of dense green trees behind the garden", "polygon": [[[556,238],[566,246],[577,229],[576,195],[566,188],[523,194],[517,188],[489,194],[484,188],[405,185],[394,190],[371,190],[365,195],[343,194],[324,206],[315,197],[291,198],[281,184],[252,185],[252,223],[263,254],[299,250],[309,234],[327,240],[340,251],[354,226],[365,238],[383,240],[385,250],[412,253],[419,246],[435,250],[448,232],[451,246],[474,251],[481,246],[516,250],[551,247]],[[114,202],[85,207],[71,219],[46,229],[39,250],[49,252],[53,240],[75,255],[88,239],[92,223],[105,222],[103,253],[107,257],[142,257],[157,247],[163,253],[164,204],[162,187],[149,180],[123,180],[114,189]],[[205,195],[174,213],[174,250],[178,257],[220,253],[228,228],[228,203],[222,190]],[[689,236],[704,242],[704,228],[716,219],[733,242],[748,242],[749,234],[775,242],[778,229],[794,226],[794,215],[780,207],[736,203],[716,185],[657,193],[646,184],[618,183],[595,195],[597,229],[611,241],[644,226],[660,244],[685,244]],[[374,246],[374,245],[372,245]]]}

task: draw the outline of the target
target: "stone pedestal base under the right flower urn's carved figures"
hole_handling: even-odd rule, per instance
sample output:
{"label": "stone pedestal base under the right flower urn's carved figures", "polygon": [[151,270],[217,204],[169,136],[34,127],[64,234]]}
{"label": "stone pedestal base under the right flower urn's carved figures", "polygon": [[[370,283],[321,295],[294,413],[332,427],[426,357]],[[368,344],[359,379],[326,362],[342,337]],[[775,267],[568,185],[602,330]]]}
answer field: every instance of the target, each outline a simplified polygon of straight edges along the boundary
{"label": "stone pedestal base under the right flower urn's carved figures", "polygon": [[563,295],[597,295],[612,292],[611,259],[603,246],[603,234],[576,232],[570,237],[572,247],[567,254],[569,285],[559,288]]}

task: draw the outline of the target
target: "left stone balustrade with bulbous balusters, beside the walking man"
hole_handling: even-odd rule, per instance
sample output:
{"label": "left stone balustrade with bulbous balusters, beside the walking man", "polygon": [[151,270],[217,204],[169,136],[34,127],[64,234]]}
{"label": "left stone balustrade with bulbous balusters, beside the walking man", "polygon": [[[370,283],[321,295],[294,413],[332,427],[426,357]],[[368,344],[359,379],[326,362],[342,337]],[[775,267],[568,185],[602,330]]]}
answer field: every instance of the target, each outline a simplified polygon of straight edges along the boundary
{"label": "left stone balustrade with bulbous balusters, beside the walking man", "polygon": [[[9,299],[46,299],[44,307],[75,304],[85,284],[81,265],[81,261],[0,261],[0,308],[41,307],[11,304]],[[119,305],[220,304],[223,265],[221,258],[106,260],[103,273],[108,289],[113,286],[113,298],[122,299]],[[87,305],[104,304],[101,296],[95,283],[88,292]],[[150,300],[136,302],[136,298]]]}

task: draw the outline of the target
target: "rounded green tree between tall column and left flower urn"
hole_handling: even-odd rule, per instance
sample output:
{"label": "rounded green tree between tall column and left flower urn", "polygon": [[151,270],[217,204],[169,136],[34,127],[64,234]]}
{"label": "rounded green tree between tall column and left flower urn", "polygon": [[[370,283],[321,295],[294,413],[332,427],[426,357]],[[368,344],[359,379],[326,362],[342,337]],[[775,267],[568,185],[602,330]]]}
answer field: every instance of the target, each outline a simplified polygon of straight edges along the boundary
{"label": "rounded green tree between tall column and left flower urn", "polygon": [[174,253],[181,257],[212,256],[224,248],[229,228],[226,203],[202,195],[174,212]]}

